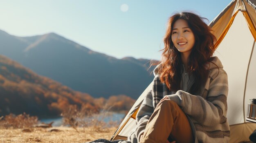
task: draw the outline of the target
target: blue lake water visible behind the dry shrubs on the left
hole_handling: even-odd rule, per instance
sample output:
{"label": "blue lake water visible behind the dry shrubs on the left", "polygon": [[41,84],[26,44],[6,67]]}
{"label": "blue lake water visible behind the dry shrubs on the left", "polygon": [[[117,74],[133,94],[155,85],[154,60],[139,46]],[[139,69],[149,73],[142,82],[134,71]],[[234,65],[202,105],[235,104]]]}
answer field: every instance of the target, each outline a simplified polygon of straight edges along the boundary
{"label": "blue lake water visible behind the dry shrubs on the left", "polygon": [[[104,117],[103,121],[106,123],[108,123],[109,121],[118,121],[119,122],[118,124],[120,124],[121,120],[125,117],[125,114],[111,113],[110,115],[101,115],[97,117],[97,119],[101,120],[103,117]],[[54,123],[52,124],[52,126],[54,127],[61,126],[63,124],[62,117],[39,119],[39,121],[44,123],[51,123],[52,121],[54,121]]]}

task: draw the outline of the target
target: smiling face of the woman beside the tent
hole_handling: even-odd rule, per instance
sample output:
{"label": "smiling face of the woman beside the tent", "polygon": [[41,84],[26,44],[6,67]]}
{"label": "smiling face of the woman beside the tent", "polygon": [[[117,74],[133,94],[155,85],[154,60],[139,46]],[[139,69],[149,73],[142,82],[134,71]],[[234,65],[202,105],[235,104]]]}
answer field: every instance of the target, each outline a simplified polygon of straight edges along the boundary
{"label": "smiling face of the woman beside the tent", "polygon": [[171,35],[174,46],[183,55],[189,55],[195,44],[195,36],[186,20],[179,19],[173,24]]}

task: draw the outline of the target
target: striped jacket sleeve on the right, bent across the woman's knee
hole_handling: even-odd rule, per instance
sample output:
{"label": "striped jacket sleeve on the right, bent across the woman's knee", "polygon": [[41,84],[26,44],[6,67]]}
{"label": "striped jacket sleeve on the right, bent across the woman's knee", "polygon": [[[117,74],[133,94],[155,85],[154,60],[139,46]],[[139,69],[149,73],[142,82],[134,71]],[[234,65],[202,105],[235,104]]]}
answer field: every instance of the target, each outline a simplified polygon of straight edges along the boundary
{"label": "striped jacket sleeve on the right, bent across the woman's knee", "polygon": [[[213,126],[226,122],[228,80],[227,73],[222,68],[213,70],[205,86],[208,88],[207,98],[191,95],[188,92],[178,90],[173,95],[166,95],[175,101],[182,110],[195,119],[198,123]],[[215,77],[215,78],[212,78]]]}

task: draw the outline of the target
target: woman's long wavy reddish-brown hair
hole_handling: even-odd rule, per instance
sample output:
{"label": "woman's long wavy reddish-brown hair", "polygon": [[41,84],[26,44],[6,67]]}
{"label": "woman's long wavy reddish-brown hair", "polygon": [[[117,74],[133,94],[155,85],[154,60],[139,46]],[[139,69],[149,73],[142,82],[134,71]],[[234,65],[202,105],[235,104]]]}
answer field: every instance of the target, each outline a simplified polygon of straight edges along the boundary
{"label": "woman's long wavy reddish-brown hair", "polygon": [[164,49],[162,53],[162,64],[159,66],[160,81],[165,83],[169,90],[177,91],[181,89],[182,60],[181,53],[175,48],[172,40],[173,24],[183,19],[189,25],[195,36],[195,44],[188,58],[188,74],[193,74],[195,82],[190,88],[190,93],[196,93],[200,86],[205,83],[208,71],[204,64],[212,60],[214,52],[214,42],[216,37],[211,33],[209,26],[203,21],[207,20],[199,15],[190,12],[176,13],[168,20],[166,34],[164,36]]}

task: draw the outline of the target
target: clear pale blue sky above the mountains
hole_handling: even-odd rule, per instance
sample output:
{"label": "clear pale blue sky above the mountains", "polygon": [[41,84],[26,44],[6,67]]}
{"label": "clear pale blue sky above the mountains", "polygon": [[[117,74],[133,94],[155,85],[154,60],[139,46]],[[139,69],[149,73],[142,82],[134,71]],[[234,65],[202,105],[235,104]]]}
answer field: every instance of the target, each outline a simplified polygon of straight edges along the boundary
{"label": "clear pale blue sky above the mountains", "polygon": [[[213,20],[231,0],[0,0],[0,29],[11,35],[50,32],[100,53],[160,59],[166,22],[193,11]],[[121,5],[128,6],[121,11]]]}

